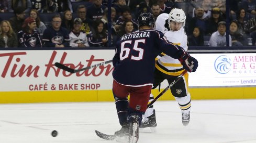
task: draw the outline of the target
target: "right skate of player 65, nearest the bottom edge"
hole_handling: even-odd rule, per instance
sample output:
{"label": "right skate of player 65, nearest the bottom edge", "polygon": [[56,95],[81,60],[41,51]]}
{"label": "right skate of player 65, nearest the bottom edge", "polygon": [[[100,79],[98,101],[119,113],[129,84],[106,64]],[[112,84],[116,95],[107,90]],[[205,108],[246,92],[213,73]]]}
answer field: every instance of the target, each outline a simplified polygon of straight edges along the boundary
{"label": "right skate of player 65, nearest the bottom edge", "polygon": [[129,119],[129,143],[136,143],[139,140],[139,116],[132,115]]}

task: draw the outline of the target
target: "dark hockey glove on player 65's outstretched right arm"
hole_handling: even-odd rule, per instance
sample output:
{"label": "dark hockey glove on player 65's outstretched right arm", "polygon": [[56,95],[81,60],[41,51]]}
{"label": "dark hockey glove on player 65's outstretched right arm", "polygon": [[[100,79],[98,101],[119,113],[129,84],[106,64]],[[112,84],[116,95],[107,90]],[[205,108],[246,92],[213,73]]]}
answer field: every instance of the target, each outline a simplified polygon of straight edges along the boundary
{"label": "dark hockey glove on player 65's outstretched right arm", "polygon": [[188,72],[195,72],[198,67],[198,61],[191,57],[187,52],[179,58],[183,68]]}

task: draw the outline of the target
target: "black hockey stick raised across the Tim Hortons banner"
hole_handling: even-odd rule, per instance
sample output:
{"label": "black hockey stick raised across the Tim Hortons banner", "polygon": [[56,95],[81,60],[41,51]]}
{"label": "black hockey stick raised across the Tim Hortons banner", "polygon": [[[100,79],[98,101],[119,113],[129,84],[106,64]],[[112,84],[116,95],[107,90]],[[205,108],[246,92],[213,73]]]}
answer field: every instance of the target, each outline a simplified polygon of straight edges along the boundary
{"label": "black hockey stick raised across the Tim Hortons banner", "polygon": [[68,71],[70,73],[76,73],[76,72],[80,72],[80,71],[84,71],[84,70],[88,70],[88,69],[91,69],[91,68],[94,68],[94,67],[98,67],[98,66],[102,66],[106,63],[109,63],[109,62],[112,62],[112,60],[109,60],[109,61],[104,61],[104,62],[101,62],[101,63],[97,63],[97,64],[94,64],[90,67],[85,67],[85,68],[82,68],[82,69],[72,69],[72,68],[69,68],[68,66],[65,66],[64,64],[62,63],[59,63],[59,62],[55,62],[54,65],[64,71]]}

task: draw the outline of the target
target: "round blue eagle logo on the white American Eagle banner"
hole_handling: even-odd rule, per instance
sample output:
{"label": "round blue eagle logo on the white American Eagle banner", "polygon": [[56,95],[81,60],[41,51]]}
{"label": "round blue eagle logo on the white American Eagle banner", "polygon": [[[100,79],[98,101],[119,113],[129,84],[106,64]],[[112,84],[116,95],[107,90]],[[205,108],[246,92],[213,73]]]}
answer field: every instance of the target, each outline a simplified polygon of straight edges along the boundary
{"label": "round blue eagle logo on the white American Eagle banner", "polygon": [[221,55],[215,60],[214,67],[218,73],[226,74],[231,70],[231,60],[226,55]]}

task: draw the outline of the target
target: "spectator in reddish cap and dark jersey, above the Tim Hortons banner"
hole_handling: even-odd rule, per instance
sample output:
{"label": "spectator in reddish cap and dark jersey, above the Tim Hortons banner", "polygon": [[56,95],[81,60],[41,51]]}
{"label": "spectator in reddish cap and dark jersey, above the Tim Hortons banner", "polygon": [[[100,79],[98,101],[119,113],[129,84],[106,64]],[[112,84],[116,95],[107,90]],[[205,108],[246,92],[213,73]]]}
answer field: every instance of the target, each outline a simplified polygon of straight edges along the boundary
{"label": "spectator in reddish cap and dark jersey, above the Tim Hortons banner", "polygon": [[42,47],[39,33],[36,31],[36,20],[28,17],[22,27],[23,30],[18,33],[19,47]]}

